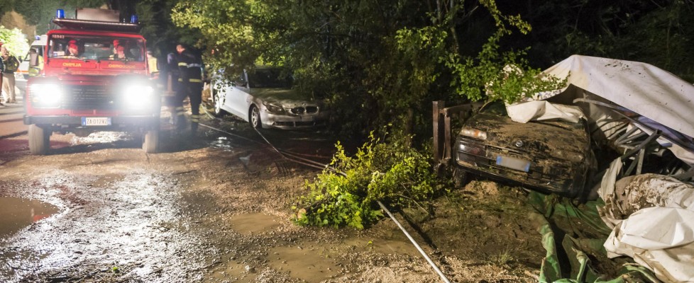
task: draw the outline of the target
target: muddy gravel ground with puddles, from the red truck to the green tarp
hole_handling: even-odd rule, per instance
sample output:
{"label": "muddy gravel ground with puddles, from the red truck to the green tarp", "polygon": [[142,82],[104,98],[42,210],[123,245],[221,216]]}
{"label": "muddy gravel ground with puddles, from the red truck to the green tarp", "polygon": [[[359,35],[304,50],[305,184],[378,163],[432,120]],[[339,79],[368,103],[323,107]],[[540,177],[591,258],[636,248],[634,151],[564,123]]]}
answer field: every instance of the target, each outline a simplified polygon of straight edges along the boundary
{"label": "muddy gravel ground with puddles, from the red truck to the green tarp", "polygon": [[[0,200],[26,224],[2,224],[0,282],[441,282],[388,218],[292,224],[319,170],[241,122],[204,123],[226,133],[164,129],[160,154],[119,134],[54,135],[48,156],[29,155],[26,136],[1,141]],[[319,161],[333,150],[320,132],[263,134]],[[451,282],[536,282],[546,252],[526,195],[475,180],[432,212],[395,215]]]}

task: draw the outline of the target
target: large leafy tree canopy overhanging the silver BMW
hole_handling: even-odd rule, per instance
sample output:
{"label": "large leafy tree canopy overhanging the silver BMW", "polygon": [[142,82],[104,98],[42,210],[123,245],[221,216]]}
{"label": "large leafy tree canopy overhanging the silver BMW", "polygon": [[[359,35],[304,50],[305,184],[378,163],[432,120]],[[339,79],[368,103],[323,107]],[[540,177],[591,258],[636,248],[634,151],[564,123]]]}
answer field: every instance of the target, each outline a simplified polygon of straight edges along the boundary
{"label": "large leafy tree canopy overhanging the silver BMW", "polygon": [[[497,44],[512,28],[528,33],[530,26],[493,0],[193,0],[177,4],[172,19],[202,33],[202,44],[214,50],[206,62],[229,78],[258,62],[292,69],[302,91],[326,98],[334,130],[344,137],[365,137],[387,124],[426,137],[431,108],[423,105],[432,100],[510,101],[517,98],[510,91],[534,91],[524,86],[536,74],[524,69],[524,53],[501,53]],[[481,47],[461,40],[468,19],[491,22],[480,33],[493,41],[478,57],[461,52]],[[497,83],[512,61],[523,76]],[[485,85],[494,86],[495,96]]]}

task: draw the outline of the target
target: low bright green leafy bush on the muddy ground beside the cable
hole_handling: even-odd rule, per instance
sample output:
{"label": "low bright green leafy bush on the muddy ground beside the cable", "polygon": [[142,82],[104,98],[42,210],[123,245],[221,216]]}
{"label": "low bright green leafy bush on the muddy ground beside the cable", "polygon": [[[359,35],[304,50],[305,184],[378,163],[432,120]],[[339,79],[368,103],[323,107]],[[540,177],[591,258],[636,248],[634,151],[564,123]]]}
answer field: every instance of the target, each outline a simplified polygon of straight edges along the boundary
{"label": "low bright green leafy bush on the muddy ground beside the cable", "polygon": [[426,156],[393,135],[381,142],[373,132],[356,154],[348,156],[341,144],[330,169],[306,187],[294,209],[294,223],[309,226],[351,226],[363,229],[382,218],[376,201],[403,207],[419,204],[439,188]]}

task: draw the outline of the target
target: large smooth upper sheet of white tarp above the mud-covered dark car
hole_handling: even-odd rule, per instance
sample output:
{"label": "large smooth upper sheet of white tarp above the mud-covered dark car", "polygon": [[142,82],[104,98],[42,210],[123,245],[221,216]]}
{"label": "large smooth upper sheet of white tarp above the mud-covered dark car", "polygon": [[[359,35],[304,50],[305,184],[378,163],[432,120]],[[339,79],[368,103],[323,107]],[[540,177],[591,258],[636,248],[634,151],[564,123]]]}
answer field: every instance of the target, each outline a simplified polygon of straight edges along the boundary
{"label": "large smooth upper sheet of white tarp above the mud-covered dark car", "polygon": [[568,76],[568,84],[694,137],[694,85],[668,71],[641,62],[572,55],[542,74]]}

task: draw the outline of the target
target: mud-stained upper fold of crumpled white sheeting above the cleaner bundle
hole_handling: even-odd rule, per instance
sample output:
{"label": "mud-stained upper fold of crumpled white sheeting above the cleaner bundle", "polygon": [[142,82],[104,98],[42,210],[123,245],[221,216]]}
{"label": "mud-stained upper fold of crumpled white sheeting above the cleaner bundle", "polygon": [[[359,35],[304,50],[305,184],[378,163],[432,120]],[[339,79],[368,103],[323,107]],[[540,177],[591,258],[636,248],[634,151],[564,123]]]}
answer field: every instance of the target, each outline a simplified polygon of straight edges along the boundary
{"label": "mud-stained upper fold of crumpled white sheeting above the cleaner bundle", "polygon": [[598,194],[605,206],[598,209],[611,229],[623,219],[647,207],[673,207],[694,211],[694,185],[658,174],[632,175],[616,181],[622,170],[617,158],[602,178]]}

